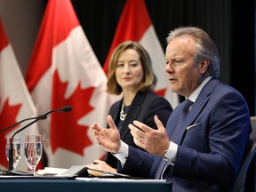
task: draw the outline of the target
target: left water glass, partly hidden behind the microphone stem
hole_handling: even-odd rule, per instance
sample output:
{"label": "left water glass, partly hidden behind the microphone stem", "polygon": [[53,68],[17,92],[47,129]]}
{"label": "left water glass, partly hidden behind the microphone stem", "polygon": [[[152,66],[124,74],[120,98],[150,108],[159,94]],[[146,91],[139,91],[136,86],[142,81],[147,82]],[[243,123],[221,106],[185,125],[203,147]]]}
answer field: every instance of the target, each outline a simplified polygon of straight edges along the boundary
{"label": "left water glass, partly hidden behind the microphone stem", "polygon": [[[6,142],[6,146],[5,146],[5,155],[7,157],[7,161],[9,161],[10,142],[11,142],[11,138],[8,138],[8,140]],[[12,168],[13,168],[13,170],[15,170],[17,167],[17,164],[20,161],[20,156],[21,156],[21,139],[20,139],[20,137],[12,138],[12,148],[13,148]]]}

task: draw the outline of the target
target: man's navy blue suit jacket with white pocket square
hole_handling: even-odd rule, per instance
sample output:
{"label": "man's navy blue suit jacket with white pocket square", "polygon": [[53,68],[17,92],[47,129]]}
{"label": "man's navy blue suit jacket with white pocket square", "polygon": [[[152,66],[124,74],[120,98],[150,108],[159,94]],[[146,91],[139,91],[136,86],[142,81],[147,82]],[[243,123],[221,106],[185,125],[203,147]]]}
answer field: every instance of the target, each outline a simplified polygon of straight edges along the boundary
{"label": "man's navy blue suit jacket with white pocket square", "polygon": [[[171,138],[182,103],[170,116]],[[172,191],[230,191],[244,156],[251,146],[250,114],[243,96],[219,80],[210,80],[188,113],[180,135],[174,166],[166,180]],[[154,178],[161,157],[129,147],[123,172]],[[142,174],[143,173],[143,174]]]}

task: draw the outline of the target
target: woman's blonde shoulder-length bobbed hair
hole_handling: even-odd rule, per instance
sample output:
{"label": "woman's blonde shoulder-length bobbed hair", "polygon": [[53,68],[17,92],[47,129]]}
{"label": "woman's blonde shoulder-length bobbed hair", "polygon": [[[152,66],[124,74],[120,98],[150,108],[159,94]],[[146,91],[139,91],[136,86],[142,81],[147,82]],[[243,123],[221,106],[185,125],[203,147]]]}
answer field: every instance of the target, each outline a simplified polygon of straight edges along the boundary
{"label": "woman's blonde shoulder-length bobbed hair", "polygon": [[111,55],[108,65],[108,82],[107,92],[110,94],[119,95],[122,92],[122,88],[116,82],[116,66],[117,61],[123,52],[127,49],[132,49],[138,52],[140,55],[140,62],[143,68],[143,79],[139,87],[140,92],[152,91],[156,85],[156,76],[153,73],[152,64],[148,52],[137,42],[125,41],[119,44]]}

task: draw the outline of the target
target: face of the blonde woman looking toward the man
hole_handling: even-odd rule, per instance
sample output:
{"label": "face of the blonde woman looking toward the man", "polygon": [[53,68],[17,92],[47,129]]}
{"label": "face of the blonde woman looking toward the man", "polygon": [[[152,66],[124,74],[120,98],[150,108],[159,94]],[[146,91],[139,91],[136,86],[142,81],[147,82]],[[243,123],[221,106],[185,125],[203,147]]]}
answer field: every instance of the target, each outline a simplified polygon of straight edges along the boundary
{"label": "face of the blonde woman looking toward the man", "polygon": [[144,76],[139,53],[133,49],[125,50],[117,60],[115,74],[123,91],[137,92]]}

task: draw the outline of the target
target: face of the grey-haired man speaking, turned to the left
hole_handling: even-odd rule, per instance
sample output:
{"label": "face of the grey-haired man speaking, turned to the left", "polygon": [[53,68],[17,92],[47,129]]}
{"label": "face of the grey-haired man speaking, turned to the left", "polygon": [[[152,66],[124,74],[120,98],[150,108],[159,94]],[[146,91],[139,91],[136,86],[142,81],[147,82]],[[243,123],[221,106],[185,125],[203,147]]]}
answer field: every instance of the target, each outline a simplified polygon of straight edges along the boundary
{"label": "face of the grey-haired man speaking, turned to the left", "polygon": [[[188,97],[201,84],[201,65],[196,63],[196,46],[191,36],[172,39],[165,52],[168,80],[172,92]],[[205,71],[204,71],[205,72]]]}

